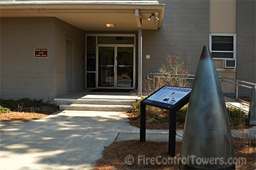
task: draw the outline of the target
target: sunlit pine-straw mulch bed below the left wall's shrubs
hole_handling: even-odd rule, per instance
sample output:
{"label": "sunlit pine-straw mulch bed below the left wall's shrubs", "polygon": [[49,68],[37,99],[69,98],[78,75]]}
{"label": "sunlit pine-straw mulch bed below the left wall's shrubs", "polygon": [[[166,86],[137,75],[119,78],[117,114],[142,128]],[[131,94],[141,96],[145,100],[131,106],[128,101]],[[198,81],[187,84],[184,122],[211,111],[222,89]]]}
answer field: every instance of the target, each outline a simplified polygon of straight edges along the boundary
{"label": "sunlit pine-straw mulch bed below the left wall's shrubs", "polygon": [[59,107],[56,106],[23,107],[20,108],[20,110],[1,113],[0,120],[28,122],[29,120],[37,120],[47,117],[58,110]]}

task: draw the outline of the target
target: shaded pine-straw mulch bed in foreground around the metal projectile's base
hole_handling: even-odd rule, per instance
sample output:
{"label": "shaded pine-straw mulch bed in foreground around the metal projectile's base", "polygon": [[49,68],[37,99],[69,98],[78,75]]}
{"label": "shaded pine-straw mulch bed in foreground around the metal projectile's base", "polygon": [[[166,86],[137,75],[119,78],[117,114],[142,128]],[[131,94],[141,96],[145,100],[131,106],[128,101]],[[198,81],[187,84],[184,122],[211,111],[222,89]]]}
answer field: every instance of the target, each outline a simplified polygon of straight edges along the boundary
{"label": "shaded pine-straw mulch bed in foreground around the metal projectile's base", "polygon": [[[236,169],[256,169],[256,139],[234,138],[233,142],[235,157],[246,158],[246,164],[236,165]],[[105,147],[94,169],[178,169],[174,163],[178,159],[170,157],[167,148],[168,142],[113,142]],[[176,142],[176,158],[180,157],[180,152],[181,142]]]}

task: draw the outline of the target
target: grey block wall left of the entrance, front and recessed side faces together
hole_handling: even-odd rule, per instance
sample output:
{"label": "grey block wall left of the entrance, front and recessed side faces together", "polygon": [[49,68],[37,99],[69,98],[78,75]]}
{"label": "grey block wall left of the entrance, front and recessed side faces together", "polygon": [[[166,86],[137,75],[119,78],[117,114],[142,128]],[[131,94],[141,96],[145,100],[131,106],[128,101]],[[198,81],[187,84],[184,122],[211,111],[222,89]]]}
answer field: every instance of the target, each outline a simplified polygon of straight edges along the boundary
{"label": "grey block wall left of the entrance, front and recessed side faces together", "polygon": [[[84,88],[84,32],[56,18],[1,18],[1,98],[44,98],[65,93],[66,37],[74,41],[73,88]],[[47,48],[48,58],[35,58]]]}

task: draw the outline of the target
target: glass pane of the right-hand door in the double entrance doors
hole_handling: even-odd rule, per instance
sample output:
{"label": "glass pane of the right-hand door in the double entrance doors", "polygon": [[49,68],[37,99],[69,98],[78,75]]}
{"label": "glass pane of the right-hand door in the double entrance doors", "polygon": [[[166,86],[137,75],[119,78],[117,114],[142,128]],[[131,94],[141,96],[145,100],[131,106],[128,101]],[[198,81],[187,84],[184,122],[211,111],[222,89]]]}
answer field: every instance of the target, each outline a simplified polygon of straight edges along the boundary
{"label": "glass pane of the right-hand door in the double entrance doors", "polygon": [[117,47],[117,87],[133,87],[133,47]]}

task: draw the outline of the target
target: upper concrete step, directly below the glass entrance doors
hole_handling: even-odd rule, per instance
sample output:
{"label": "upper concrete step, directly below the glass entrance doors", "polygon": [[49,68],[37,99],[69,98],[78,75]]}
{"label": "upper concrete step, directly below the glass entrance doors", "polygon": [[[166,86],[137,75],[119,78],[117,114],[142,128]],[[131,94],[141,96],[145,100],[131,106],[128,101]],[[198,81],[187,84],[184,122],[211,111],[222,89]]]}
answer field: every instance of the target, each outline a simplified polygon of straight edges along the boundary
{"label": "upper concrete step, directly below the glass entrance doors", "polygon": [[135,99],[102,99],[102,98],[55,98],[57,105],[61,104],[105,104],[105,105],[132,105]]}

